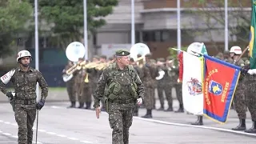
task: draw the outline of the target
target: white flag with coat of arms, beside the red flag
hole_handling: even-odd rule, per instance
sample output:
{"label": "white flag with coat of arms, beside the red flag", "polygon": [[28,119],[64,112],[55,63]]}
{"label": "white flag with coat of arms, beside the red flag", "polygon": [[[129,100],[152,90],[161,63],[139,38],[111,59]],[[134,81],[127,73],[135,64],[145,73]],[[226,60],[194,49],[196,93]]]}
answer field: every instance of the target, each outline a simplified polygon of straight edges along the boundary
{"label": "white flag with coat of arms, beside the red flag", "polygon": [[183,106],[187,112],[195,115],[203,114],[202,62],[202,57],[183,52]]}

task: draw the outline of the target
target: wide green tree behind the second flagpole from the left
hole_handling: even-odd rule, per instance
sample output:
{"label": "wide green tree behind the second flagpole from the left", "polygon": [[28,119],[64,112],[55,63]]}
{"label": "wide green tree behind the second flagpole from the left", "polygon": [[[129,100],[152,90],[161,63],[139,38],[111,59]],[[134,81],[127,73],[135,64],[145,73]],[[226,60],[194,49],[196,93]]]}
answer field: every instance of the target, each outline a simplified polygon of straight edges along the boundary
{"label": "wide green tree behind the second flagpole from the left", "polygon": [[[111,14],[118,0],[87,0],[87,26],[91,34],[106,24],[102,19]],[[40,0],[40,18],[54,23],[51,42],[66,47],[70,42],[79,41],[83,37],[83,0]]]}

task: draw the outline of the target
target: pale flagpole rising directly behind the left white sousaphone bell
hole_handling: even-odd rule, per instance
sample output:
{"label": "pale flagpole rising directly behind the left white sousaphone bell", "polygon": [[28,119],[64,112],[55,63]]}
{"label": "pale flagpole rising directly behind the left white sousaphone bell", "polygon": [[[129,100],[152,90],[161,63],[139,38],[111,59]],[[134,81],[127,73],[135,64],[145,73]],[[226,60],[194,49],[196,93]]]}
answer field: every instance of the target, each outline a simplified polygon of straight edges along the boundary
{"label": "pale flagpole rising directly behind the left white sousaphone bell", "polygon": [[87,33],[87,0],[83,0],[83,41],[86,49],[85,60],[88,60],[88,33]]}

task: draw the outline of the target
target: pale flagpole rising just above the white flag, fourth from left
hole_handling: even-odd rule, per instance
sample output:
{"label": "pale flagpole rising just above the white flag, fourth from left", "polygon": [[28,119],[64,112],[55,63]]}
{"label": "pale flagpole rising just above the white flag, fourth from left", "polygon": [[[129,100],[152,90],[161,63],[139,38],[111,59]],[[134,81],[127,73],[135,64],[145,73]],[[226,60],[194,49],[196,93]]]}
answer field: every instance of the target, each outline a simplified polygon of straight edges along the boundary
{"label": "pale flagpole rising just above the white flag, fourth from left", "polygon": [[181,40],[181,1],[177,0],[177,45],[178,50],[182,50]]}

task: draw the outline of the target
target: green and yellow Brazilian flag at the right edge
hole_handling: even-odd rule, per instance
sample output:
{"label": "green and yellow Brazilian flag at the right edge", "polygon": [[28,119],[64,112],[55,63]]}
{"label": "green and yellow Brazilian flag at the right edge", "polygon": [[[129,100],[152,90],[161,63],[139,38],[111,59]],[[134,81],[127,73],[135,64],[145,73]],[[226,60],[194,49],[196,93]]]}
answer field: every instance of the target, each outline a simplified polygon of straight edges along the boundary
{"label": "green and yellow Brazilian flag at the right edge", "polygon": [[250,20],[250,69],[256,69],[256,0],[251,0],[251,20]]}

